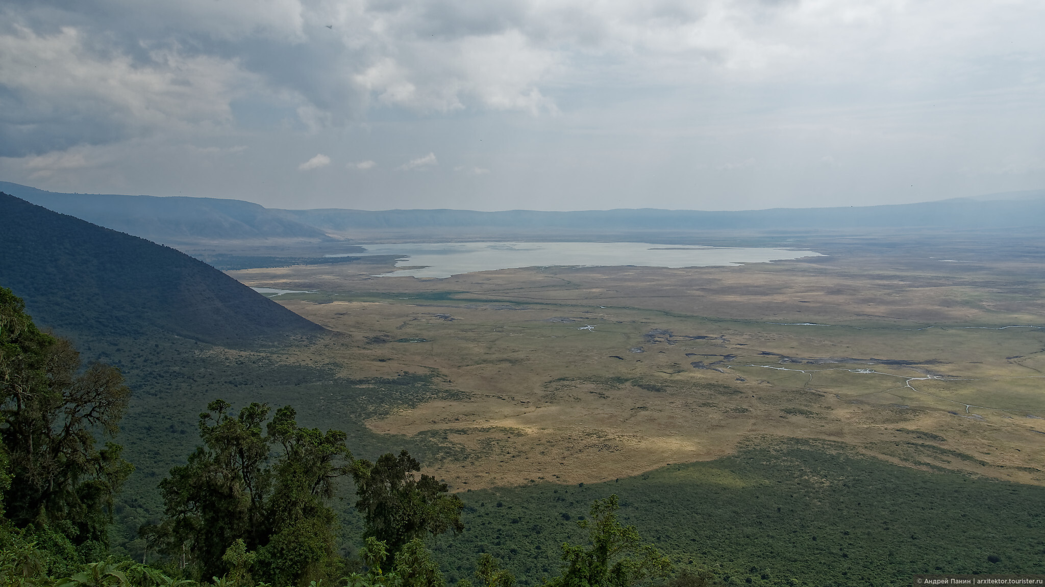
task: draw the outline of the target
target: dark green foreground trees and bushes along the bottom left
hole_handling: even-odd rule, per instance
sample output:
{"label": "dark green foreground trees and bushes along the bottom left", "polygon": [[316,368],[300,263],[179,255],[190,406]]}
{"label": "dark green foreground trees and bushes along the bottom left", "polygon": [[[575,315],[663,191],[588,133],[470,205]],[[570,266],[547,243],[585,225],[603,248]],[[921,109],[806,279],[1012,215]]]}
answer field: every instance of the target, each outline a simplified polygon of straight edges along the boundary
{"label": "dark green foreground trees and bushes along the bottom left", "polygon": [[[7,585],[445,584],[424,539],[460,534],[465,506],[445,484],[415,475],[420,464],[407,451],[354,460],[344,432],[301,427],[291,406],[252,403],[234,414],[223,400],[200,415],[202,446],[160,483],[165,519],[140,531],[153,559],[146,550],[141,563],[118,560],[107,551],[107,529],[133,470],[112,442],[130,396],[119,370],[83,369],[68,341],[41,332],[22,300],[0,288],[0,384]],[[97,435],[109,439],[101,448]],[[347,475],[366,520],[352,560],[339,553],[329,503]],[[593,545],[563,544],[567,566],[554,584],[625,587],[667,576],[667,559],[618,523],[617,509],[616,497],[596,502]],[[514,584],[489,555],[478,567],[488,587]]]}

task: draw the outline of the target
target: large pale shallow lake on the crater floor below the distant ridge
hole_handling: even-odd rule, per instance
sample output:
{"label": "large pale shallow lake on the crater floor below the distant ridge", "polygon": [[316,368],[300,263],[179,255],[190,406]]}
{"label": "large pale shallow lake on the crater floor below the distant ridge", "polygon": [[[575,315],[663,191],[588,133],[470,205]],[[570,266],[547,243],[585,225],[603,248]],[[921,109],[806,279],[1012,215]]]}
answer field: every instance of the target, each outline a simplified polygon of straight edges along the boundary
{"label": "large pale shallow lake on the crater floor below the distant ridge", "polygon": [[[649,242],[404,242],[364,244],[362,255],[395,255],[397,267],[375,277],[445,278],[454,275],[549,266],[737,266],[821,257],[799,249],[718,248]],[[359,253],[352,253],[355,257]],[[347,257],[349,255],[327,255]],[[409,267],[409,268],[405,268]]]}

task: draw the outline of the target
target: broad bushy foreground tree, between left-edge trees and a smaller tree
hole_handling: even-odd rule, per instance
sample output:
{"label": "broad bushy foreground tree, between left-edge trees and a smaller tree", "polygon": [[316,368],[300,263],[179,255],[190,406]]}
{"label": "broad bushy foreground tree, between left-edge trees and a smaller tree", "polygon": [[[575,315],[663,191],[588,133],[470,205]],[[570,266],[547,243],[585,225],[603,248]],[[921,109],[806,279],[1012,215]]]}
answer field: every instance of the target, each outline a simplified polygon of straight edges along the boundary
{"label": "broad bushy foreground tree, between left-edge trees and a smaller tree", "polygon": [[[188,553],[202,578],[222,576],[236,556],[256,557],[258,578],[278,585],[334,572],[336,516],[326,501],[352,454],[340,430],[299,427],[293,407],[252,403],[238,415],[212,401],[200,415],[198,447],[184,467],[160,483],[167,519],[165,549]],[[236,549],[238,553],[238,546]]]}

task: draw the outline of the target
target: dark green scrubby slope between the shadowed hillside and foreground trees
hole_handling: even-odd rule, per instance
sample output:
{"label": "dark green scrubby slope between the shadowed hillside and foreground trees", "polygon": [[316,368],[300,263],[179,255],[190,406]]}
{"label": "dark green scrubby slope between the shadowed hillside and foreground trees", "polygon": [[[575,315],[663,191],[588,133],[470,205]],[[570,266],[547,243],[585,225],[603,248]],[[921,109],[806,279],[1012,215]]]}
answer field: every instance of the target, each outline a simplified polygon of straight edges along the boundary
{"label": "dark green scrubby slope between the shadowed hillside and foreground trees", "polygon": [[[113,341],[91,343],[95,356],[120,366],[134,391],[134,401],[120,433],[126,457],[136,472],[127,479],[117,500],[113,546],[142,560],[144,550],[155,551],[138,530],[163,517],[158,482],[186,462],[199,444],[199,408],[220,397],[235,405],[268,402],[273,406],[294,403],[298,420],[309,426],[339,428],[356,456],[376,461],[390,450],[407,449],[421,462],[462,459],[463,447],[452,442],[431,442],[425,437],[377,433],[366,420],[389,412],[431,401],[458,397],[441,389],[438,375],[403,374],[393,377],[347,378],[325,366],[287,365],[266,351],[226,354],[191,341]],[[335,503],[346,533],[358,536],[363,519],[352,511],[350,484],[343,484]],[[147,546],[147,548],[146,548]]]}

